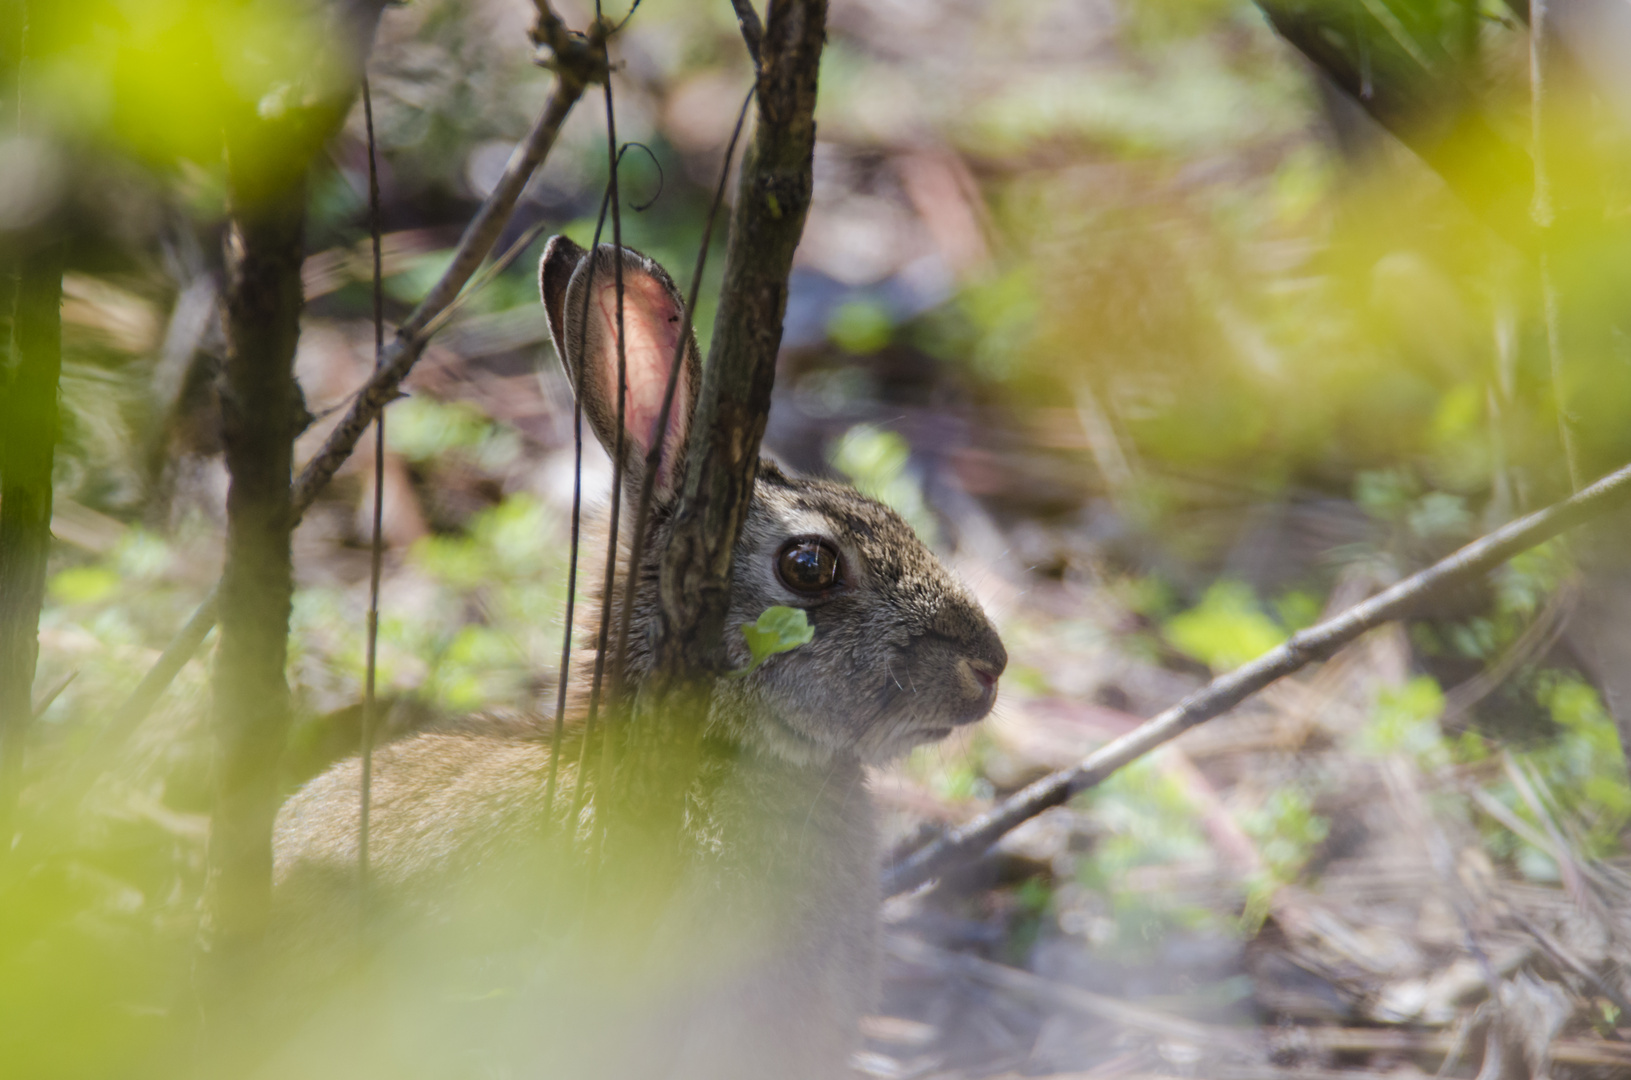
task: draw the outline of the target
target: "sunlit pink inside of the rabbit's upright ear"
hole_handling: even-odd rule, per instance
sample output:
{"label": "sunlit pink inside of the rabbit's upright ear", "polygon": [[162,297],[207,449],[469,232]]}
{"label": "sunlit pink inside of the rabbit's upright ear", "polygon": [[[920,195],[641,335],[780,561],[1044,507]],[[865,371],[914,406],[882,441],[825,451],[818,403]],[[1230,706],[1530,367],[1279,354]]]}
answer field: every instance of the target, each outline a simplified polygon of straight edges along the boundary
{"label": "sunlit pink inside of the rabbit's upright ear", "polygon": [[[617,380],[617,284],[599,287],[600,315],[610,331],[612,349],[605,357],[607,388]],[[674,344],[680,336],[680,312],[654,277],[636,276],[623,281],[623,328],[626,346],[628,393],[623,398],[623,423],[639,447],[651,452],[657,436],[657,419],[662,416],[662,395],[669,388],[669,365],[674,362]],[[612,396],[610,393],[607,395]],[[662,463],[657,467],[657,483],[672,486],[674,460],[685,437],[685,418],[690,416],[690,387],[680,378],[674,388],[674,406],[669,411],[669,431],[662,440]]]}

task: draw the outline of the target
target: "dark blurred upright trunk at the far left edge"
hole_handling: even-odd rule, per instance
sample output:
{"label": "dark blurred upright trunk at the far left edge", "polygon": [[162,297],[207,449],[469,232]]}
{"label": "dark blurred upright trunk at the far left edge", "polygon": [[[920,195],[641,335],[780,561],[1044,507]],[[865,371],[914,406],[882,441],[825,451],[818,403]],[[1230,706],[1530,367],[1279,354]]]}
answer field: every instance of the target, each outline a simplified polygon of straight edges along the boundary
{"label": "dark blurred upright trunk at the far left edge", "polygon": [[[39,605],[51,551],[51,465],[60,427],[62,255],[49,241],[21,259],[11,364],[0,406],[0,855],[11,848],[33,719]],[[11,292],[7,289],[5,292]]]}

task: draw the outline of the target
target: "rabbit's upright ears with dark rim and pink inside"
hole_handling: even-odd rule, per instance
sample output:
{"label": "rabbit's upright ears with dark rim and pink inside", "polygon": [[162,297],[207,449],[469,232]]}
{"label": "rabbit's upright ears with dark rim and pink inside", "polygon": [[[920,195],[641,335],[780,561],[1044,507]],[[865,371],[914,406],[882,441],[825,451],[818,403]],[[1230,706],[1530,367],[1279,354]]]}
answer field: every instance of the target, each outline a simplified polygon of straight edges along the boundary
{"label": "rabbit's upright ears with dark rim and pink inside", "polygon": [[[572,387],[582,365],[584,414],[607,454],[617,452],[617,258],[602,245],[594,258],[568,240],[555,237],[543,250],[538,290],[550,320],[555,351],[566,365]],[[589,308],[584,310],[587,297]],[[587,318],[586,318],[587,315]],[[623,250],[623,476],[628,491],[638,493],[646,471],[646,455],[657,436],[662,398],[669,388],[674,347],[683,325],[683,305],[669,274],[638,251]],[[674,388],[662,457],[654,486],[659,501],[669,499],[683,476],[685,437],[701,385],[696,338],[688,336]]]}

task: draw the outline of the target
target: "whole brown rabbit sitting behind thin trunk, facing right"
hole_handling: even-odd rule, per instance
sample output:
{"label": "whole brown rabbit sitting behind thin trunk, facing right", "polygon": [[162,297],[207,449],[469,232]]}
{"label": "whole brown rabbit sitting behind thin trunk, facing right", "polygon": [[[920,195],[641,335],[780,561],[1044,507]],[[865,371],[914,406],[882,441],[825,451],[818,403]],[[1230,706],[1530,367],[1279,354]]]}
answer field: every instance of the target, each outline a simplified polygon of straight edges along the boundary
{"label": "whole brown rabbit sitting behind thin trunk, facing right", "polygon": [[[626,661],[638,687],[652,667],[657,560],[701,388],[696,343],[687,341],[670,423],[657,432],[683,310],[669,274],[628,248],[600,246],[589,256],[555,237],[540,264],[540,290],[566,374],[574,385],[581,377],[584,416],[612,454],[620,258],[626,507],[641,489],[652,440],[661,437],[664,447]],[[383,933],[439,927],[452,943],[447,954],[465,949],[450,969],[465,964],[462,985],[475,997],[484,994],[481,979],[501,979],[494,972],[502,969],[509,1005],[466,1018],[473,1026],[462,1029],[488,1051],[504,1044],[514,1075],[850,1075],[858,1020],[876,982],[879,905],[863,767],[982,719],[1008,657],[979,602],[894,511],[765,460],[734,551],[727,625],[752,623],[771,605],[802,609],[814,638],[716,684],[700,765],[706,783],[695,788],[682,830],[680,884],[651,899],[641,915],[649,933],[634,935],[638,941],[618,922],[628,910],[586,912],[582,889],[572,884],[592,865],[586,837],[594,829],[586,822],[599,809],[586,783],[584,804],[568,821],[581,697],[553,806],[545,804],[548,724],[426,733],[375,752],[370,896],[391,912],[380,915],[390,927]],[[594,613],[599,604],[579,610]],[[582,640],[594,641],[594,631],[584,626]],[[726,649],[736,669],[749,666],[742,635],[727,635]],[[572,679],[579,688],[590,659],[581,651]],[[360,765],[352,759],[308,781],[277,816],[276,901],[294,936],[318,935],[325,918],[354,933],[359,795]],[[628,881],[636,883],[625,891],[630,904],[644,902],[634,896],[638,876]],[[404,963],[418,963],[426,951],[409,954],[416,959]],[[421,977],[411,971],[408,982]],[[403,980],[382,987],[391,1002],[408,994]],[[422,1025],[401,1013],[396,1038],[466,1025],[444,1010],[457,997],[419,1002],[411,1015]],[[373,1007],[391,1008],[385,998]],[[494,1020],[497,1013],[506,1018]],[[347,1039],[333,1036],[336,1046]],[[434,1041],[426,1034],[424,1049],[403,1051],[404,1060],[424,1070],[429,1057],[419,1054],[437,1052]]]}

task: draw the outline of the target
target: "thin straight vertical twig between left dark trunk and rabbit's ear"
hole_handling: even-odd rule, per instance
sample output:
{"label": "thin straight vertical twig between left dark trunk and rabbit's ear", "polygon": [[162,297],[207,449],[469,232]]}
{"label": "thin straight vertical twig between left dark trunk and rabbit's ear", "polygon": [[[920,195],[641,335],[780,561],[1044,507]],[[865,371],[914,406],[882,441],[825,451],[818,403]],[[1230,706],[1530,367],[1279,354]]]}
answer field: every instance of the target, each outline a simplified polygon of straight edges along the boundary
{"label": "thin straight vertical twig between left dark trunk and rabbit's ear", "polygon": [[[373,95],[362,77],[362,122],[369,132],[369,233],[373,241],[373,365],[385,359],[385,284],[380,258],[380,168],[373,142]],[[373,733],[378,700],[373,693],[380,644],[380,571],[385,566],[385,411],[373,421],[373,540],[369,551],[367,661],[362,675],[362,809],[357,817],[357,912],[360,930],[369,918],[369,809],[373,801]]]}

